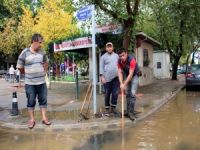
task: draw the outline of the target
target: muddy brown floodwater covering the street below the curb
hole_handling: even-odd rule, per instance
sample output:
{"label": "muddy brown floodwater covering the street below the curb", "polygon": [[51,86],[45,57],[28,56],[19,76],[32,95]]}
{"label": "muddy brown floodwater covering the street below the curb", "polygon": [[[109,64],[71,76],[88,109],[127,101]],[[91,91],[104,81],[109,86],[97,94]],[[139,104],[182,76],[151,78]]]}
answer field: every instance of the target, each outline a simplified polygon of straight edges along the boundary
{"label": "muddy brown floodwater covering the street below the curb", "polygon": [[124,131],[33,132],[0,130],[2,150],[200,150],[200,92],[181,91]]}

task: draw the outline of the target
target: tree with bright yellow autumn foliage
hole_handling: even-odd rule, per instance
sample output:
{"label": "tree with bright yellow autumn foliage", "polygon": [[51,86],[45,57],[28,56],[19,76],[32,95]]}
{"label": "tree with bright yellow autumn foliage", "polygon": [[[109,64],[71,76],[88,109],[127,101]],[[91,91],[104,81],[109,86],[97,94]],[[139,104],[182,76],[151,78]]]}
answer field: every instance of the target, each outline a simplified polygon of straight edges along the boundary
{"label": "tree with bright yellow autumn foliage", "polygon": [[67,38],[78,32],[76,24],[72,22],[70,1],[66,2],[65,7],[62,4],[63,0],[48,0],[37,10],[33,31],[44,36],[45,46],[51,41]]}

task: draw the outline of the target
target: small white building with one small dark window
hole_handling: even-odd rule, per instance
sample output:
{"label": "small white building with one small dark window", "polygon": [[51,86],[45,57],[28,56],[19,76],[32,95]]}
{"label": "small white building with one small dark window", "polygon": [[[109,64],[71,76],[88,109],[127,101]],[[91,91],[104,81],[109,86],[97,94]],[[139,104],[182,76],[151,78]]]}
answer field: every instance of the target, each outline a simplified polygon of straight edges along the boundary
{"label": "small white building with one small dark window", "polygon": [[156,78],[170,78],[170,54],[167,51],[153,52],[153,73]]}

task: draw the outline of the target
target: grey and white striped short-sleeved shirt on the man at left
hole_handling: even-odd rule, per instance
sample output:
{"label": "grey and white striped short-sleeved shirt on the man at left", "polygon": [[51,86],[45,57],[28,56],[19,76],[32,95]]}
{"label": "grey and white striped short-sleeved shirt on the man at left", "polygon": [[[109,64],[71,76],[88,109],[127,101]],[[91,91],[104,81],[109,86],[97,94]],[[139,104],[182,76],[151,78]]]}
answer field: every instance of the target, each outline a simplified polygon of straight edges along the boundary
{"label": "grey and white striped short-sleeved shirt on the man at left", "polygon": [[17,61],[17,68],[24,68],[25,84],[39,85],[45,83],[44,62],[47,62],[47,57],[41,50],[33,53],[30,48],[26,48],[21,52]]}

